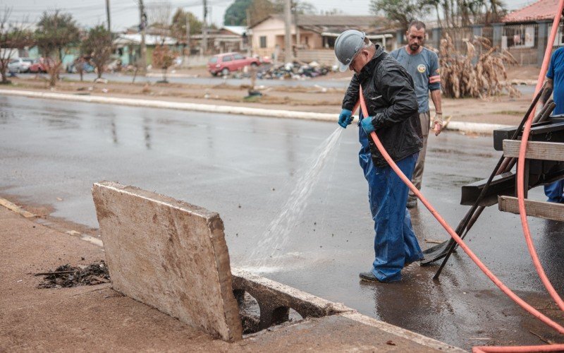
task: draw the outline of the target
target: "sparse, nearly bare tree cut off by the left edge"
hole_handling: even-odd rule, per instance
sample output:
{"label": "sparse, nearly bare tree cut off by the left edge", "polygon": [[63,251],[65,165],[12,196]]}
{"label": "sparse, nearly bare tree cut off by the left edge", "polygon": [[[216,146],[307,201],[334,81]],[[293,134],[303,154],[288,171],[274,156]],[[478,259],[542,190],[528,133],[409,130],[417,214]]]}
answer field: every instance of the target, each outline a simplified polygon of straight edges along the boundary
{"label": "sparse, nearly bare tree cut off by the left edge", "polygon": [[8,64],[16,50],[32,44],[32,32],[27,30],[23,23],[9,23],[12,10],[7,6],[0,14],[0,74],[1,83],[10,83],[6,78]]}

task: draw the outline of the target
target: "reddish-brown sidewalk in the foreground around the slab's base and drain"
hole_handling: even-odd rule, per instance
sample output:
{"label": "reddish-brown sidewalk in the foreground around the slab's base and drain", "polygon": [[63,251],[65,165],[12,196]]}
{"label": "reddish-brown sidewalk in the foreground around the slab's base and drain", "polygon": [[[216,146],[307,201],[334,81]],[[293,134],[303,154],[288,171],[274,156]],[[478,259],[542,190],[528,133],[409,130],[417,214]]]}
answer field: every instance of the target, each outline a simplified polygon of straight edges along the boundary
{"label": "reddish-brown sidewalk in the foreground around the slab's base and drain", "polygon": [[104,250],[0,206],[0,352],[462,352],[351,311],[275,326],[240,342],[214,340],[109,284],[37,289],[34,273],[87,265]]}

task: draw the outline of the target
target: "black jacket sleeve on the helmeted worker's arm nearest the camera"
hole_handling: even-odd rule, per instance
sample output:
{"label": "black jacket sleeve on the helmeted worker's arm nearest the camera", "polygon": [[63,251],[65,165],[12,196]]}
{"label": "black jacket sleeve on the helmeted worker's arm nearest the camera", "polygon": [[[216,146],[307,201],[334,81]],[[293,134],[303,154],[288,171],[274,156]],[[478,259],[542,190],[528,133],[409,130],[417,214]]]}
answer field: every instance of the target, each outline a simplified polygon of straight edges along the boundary
{"label": "black jacket sleeve on the helmeted worker's arm nearest the camera", "polygon": [[388,65],[379,71],[374,75],[374,87],[380,88],[388,107],[374,114],[372,125],[376,130],[409,119],[418,109],[413,80],[409,73],[395,65]]}

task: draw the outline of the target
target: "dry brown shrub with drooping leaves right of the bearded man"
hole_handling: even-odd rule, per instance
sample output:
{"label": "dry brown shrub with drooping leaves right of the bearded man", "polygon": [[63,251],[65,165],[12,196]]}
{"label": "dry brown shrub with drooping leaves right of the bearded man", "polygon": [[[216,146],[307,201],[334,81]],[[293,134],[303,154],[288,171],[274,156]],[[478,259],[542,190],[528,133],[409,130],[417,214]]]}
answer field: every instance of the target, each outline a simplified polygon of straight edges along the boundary
{"label": "dry brown shrub with drooping leaves right of the bearded man", "polygon": [[[476,64],[472,64],[477,55],[476,47],[482,49],[482,54],[479,54]],[[509,52],[500,52],[498,47],[491,47],[489,40],[477,36],[472,42],[466,42],[466,52],[466,55],[455,54],[448,34],[441,40],[441,87],[446,97],[485,98],[500,95],[504,88],[510,97],[521,95],[507,81],[504,63],[517,64]]]}

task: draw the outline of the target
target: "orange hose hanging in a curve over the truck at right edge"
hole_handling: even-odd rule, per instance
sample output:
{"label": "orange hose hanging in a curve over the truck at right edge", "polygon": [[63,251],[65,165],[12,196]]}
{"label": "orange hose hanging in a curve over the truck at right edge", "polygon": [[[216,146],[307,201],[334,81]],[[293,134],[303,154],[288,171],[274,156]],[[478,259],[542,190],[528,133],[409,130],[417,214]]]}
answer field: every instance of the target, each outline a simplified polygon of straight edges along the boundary
{"label": "orange hose hanging in a curve over the truck at right edge", "polygon": [[[558,6],[558,12],[554,17],[554,21],[552,24],[551,35],[548,38],[548,44],[546,45],[546,51],[544,52],[544,61],[542,64],[541,73],[539,75],[539,81],[537,82],[537,92],[539,92],[540,90],[544,75],[546,74],[548,61],[550,61],[551,59],[552,47],[553,47],[554,39],[556,38],[556,32],[558,31],[558,23],[560,22],[560,17],[562,16],[561,14],[563,9],[564,9],[564,0],[560,0],[560,5]],[[556,292],[556,289],[554,289],[551,281],[548,280],[548,277],[546,277],[546,273],[544,273],[544,268],[541,265],[541,261],[539,261],[539,256],[537,255],[537,251],[534,249],[534,244],[529,229],[529,222],[527,221],[527,212],[525,210],[525,152],[527,150],[527,140],[529,140],[529,133],[531,131],[533,115],[534,114],[529,115],[529,117],[527,118],[527,122],[525,123],[525,128],[523,128],[521,145],[519,149],[519,157],[517,159],[517,201],[519,203],[519,215],[523,227],[523,234],[525,234],[525,242],[527,243],[527,248],[529,249],[529,253],[531,254],[534,268],[537,270],[537,273],[541,278],[541,282],[546,288],[548,294],[550,294],[552,299],[556,301],[556,304],[558,305],[560,310],[564,311],[564,301],[562,300],[562,298],[560,298],[560,296]]]}

